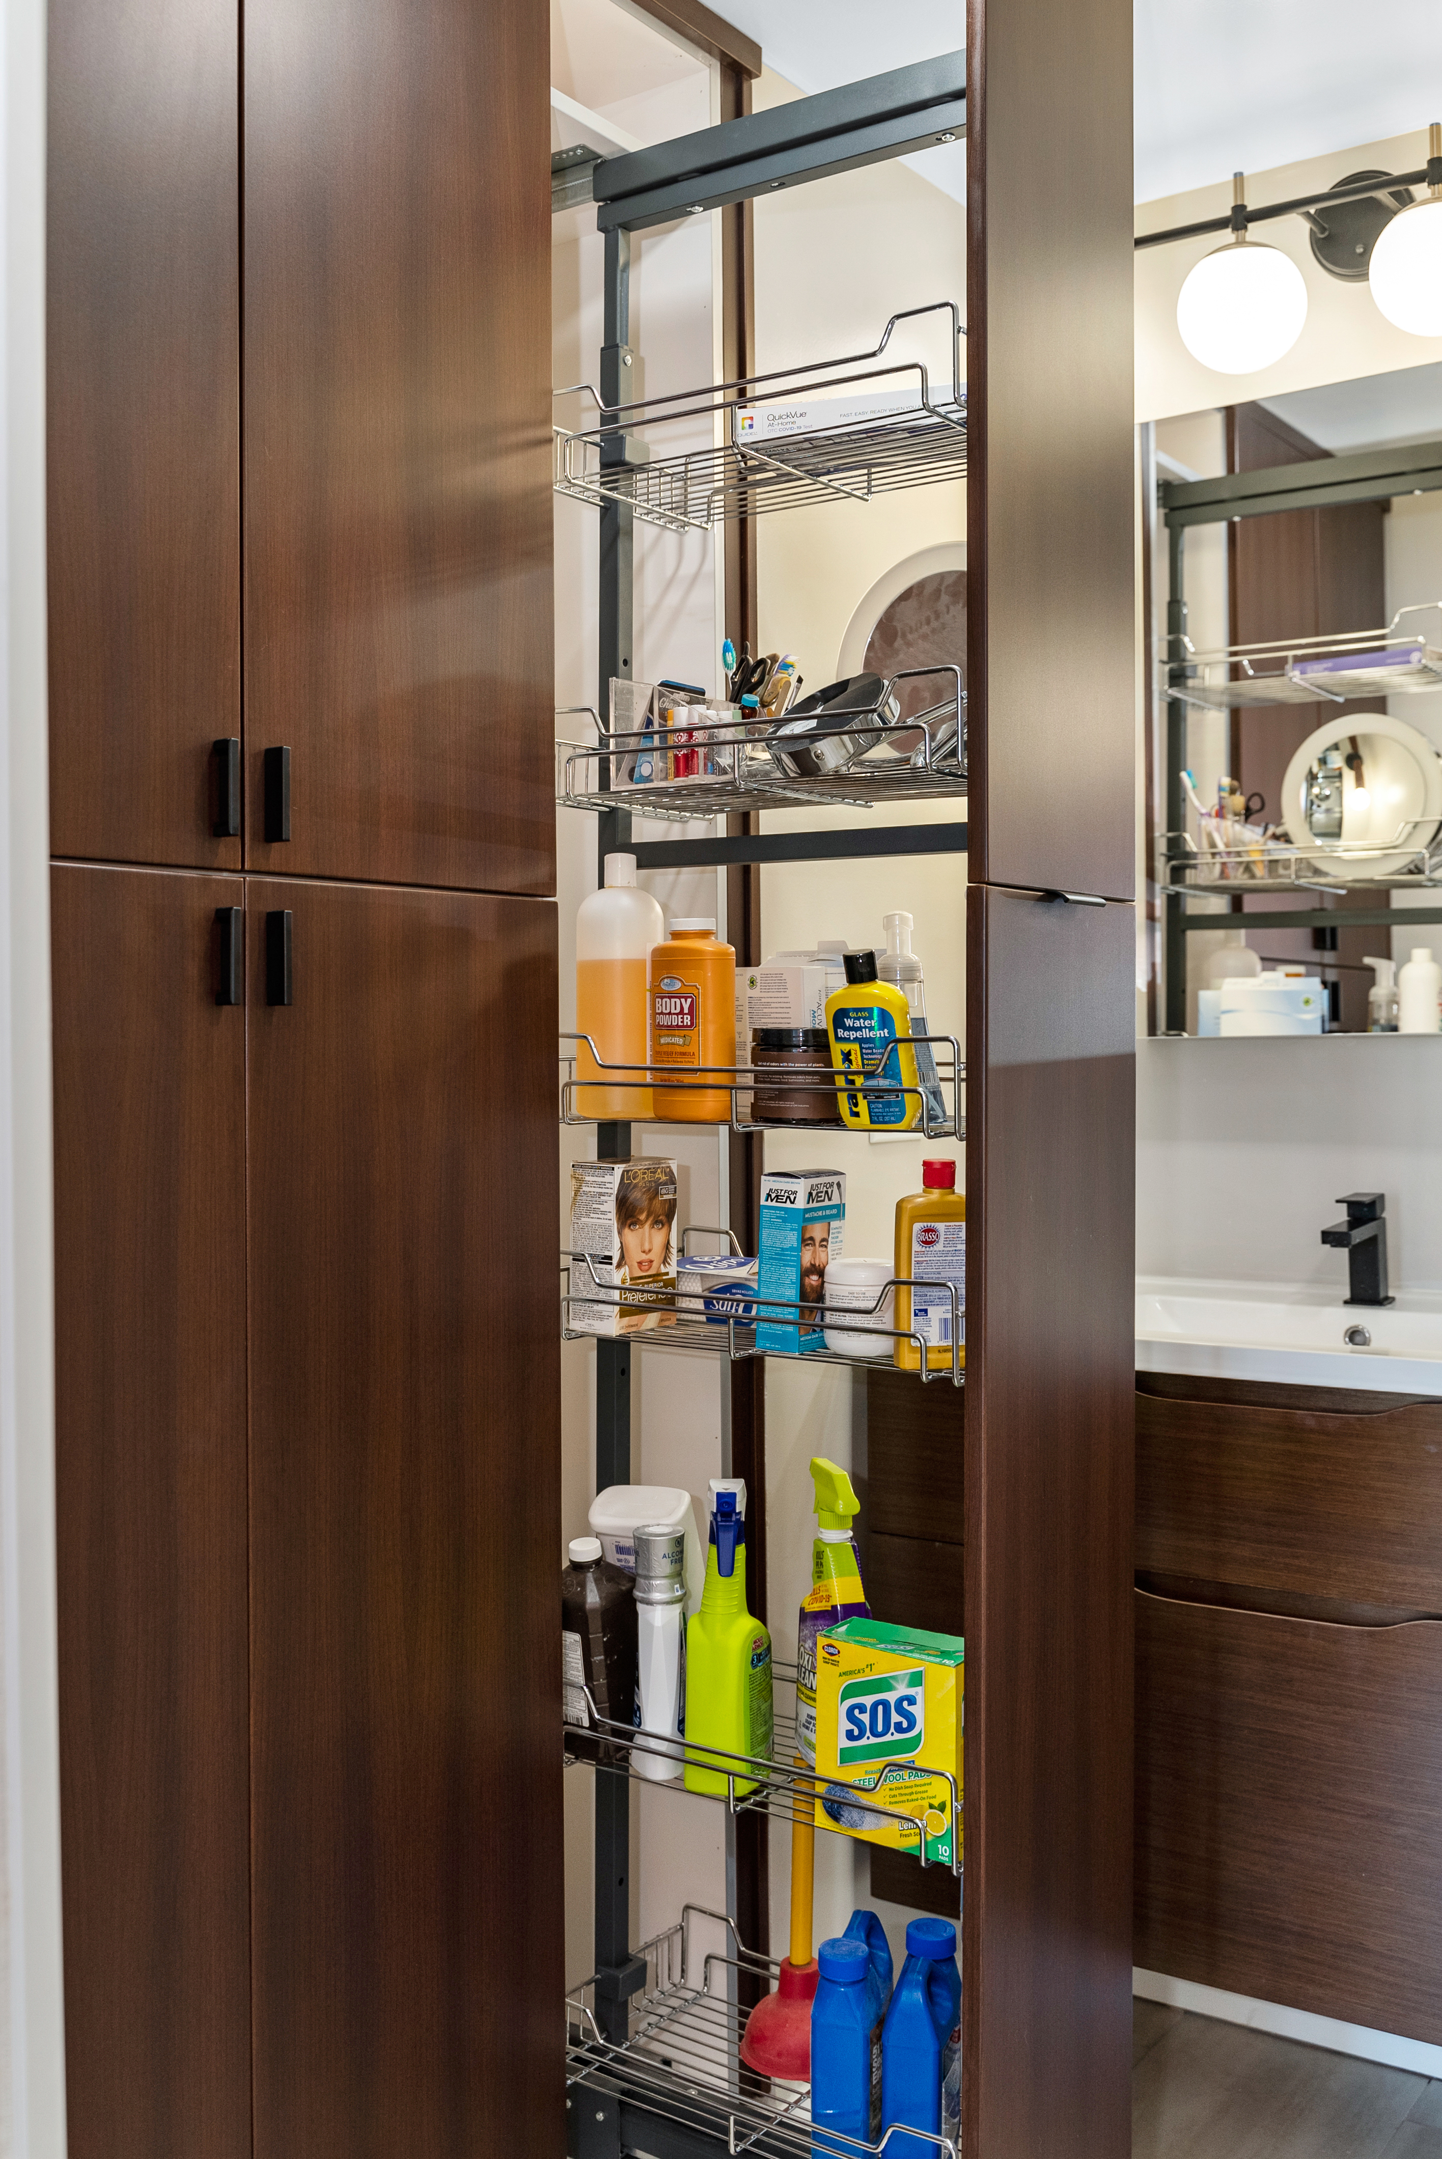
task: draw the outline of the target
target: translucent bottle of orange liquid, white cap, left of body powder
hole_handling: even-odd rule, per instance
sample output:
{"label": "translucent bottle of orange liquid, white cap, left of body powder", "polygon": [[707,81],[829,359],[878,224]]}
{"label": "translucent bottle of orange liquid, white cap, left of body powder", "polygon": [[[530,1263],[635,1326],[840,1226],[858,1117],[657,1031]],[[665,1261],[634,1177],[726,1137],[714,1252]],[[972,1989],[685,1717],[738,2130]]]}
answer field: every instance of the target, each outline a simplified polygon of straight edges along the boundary
{"label": "translucent bottle of orange liquid, white cap, left of body powder", "polygon": [[[635,855],[607,855],[607,881],[576,913],[576,1034],[589,1034],[602,1064],[624,1064],[613,1086],[579,1086],[579,1116],[641,1123],[652,1114],[645,1084],[645,965],[665,937],[661,905],[637,885]],[[576,1043],[576,1080],[596,1075],[596,1058]]]}

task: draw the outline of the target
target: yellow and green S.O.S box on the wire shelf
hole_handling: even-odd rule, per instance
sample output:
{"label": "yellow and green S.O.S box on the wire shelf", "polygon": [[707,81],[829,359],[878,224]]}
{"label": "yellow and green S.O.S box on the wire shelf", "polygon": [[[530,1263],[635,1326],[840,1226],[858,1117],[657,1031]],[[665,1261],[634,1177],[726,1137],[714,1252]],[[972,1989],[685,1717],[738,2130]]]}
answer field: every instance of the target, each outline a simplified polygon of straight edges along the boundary
{"label": "yellow and green S.O.S box on the wire shelf", "polygon": [[881,1619],[840,1619],[816,1639],[820,1829],[913,1859],[926,1837],[928,1861],[954,1863],[965,1656],[961,1634]]}

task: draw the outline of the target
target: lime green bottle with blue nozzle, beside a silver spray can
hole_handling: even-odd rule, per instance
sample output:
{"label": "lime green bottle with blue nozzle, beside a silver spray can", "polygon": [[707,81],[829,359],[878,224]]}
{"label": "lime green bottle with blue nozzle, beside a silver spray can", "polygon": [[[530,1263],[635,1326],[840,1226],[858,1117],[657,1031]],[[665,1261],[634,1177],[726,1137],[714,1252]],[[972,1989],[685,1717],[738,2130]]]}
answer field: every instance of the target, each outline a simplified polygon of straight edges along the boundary
{"label": "lime green bottle with blue nozzle, beside a silver spray can", "polygon": [[686,1624],[686,1790],[753,1792],[727,1755],[771,1760],[771,1634],[747,1611],[747,1488],[712,1477],[706,1587]]}

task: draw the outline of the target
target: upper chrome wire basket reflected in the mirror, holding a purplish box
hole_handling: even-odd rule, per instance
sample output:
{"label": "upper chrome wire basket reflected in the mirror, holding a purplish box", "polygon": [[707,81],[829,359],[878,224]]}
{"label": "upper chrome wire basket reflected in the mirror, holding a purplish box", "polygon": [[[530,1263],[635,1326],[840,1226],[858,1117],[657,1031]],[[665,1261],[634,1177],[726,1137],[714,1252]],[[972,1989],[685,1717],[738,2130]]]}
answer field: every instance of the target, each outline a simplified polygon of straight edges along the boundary
{"label": "upper chrome wire basket reflected in the mirror, holding a purplish box", "polygon": [[[1198,652],[1183,637],[1185,680],[1168,680],[1164,697],[1224,712],[1243,704],[1347,704],[1353,697],[1390,697],[1442,689],[1442,646],[1427,637],[1403,637],[1403,615],[1440,615],[1442,600],[1399,607],[1379,630],[1341,630],[1332,637],[1302,637],[1287,643],[1220,646]],[[1433,633],[1436,637],[1438,633]]]}

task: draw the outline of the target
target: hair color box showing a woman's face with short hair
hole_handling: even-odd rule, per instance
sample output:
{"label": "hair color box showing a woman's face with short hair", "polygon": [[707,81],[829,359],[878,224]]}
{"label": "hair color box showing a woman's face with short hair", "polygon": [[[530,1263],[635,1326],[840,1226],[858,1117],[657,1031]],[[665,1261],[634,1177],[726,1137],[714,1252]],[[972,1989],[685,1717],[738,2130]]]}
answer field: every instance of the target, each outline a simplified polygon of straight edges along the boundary
{"label": "hair color box showing a woman's face with short hair", "polygon": [[676,1164],[570,1166],[570,1323],[637,1334],[676,1323]]}

